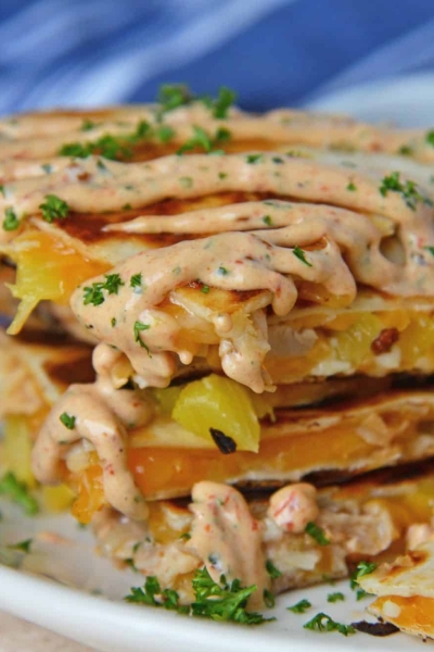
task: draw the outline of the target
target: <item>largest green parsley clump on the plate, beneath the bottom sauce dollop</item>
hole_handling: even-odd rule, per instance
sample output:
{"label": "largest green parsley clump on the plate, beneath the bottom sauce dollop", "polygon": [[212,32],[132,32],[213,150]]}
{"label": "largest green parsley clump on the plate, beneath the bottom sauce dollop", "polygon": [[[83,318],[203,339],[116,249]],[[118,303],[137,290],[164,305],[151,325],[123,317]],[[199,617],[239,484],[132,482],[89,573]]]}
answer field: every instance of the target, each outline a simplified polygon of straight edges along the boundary
{"label": "largest green parsley clump on the plate, beneath the bottom sauce dollop", "polygon": [[190,605],[180,605],[179,595],[171,589],[162,590],[156,577],[146,577],[143,588],[131,588],[127,602],[163,606],[178,613],[202,616],[213,620],[242,623],[244,625],[258,625],[273,618],[264,618],[263,614],[246,611],[246,602],[256,590],[256,586],[243,588],[239,579],[231,584],[220,577],[216,584],[206,568],[197,569],[192,580],[194,602]]}

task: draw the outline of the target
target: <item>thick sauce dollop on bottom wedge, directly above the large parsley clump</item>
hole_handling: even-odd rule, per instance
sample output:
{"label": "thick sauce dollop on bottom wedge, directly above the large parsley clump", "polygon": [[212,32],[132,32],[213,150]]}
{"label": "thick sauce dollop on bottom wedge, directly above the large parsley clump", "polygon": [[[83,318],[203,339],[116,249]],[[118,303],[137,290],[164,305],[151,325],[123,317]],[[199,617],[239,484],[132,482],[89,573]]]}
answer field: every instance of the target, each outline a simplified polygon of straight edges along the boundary
{"label": "thick sauce dollop on bottom wedge, directly above the large parsley clump", "polygon": [[188,547],[204,561],[217,582],[221,574],[228,582],[240,579],[245,587],[256,585],[250,606],[263,606],[264,590],[270,588],[261,548],[259,523],[252,516],[239,491],[227,485],[203,481],[194,485],[194,514]]}

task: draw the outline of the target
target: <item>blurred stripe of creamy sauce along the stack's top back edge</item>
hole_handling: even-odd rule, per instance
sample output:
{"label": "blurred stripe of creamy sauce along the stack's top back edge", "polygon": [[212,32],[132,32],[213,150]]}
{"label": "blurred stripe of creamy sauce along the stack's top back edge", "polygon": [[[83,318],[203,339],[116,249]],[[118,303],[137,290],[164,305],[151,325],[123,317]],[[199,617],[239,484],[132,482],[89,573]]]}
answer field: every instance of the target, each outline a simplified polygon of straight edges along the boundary
{"label": "blurred stripe of creamy sauce along the stack's top back edge", "polygon": [[[107,112],[103,120],[95,117],[94,128],[82,130],[82,116],[40,114],[0,122],[0,137],[4,156],[34,159],[55,155],[69,142],[92,141],[107,134],[131,135],[140,121],[158,125],[156,106],[139,106]],[[89,114],[90,115],[90,114]],[[104,120],[105,118],[105,120]],[[398,153],[410,148],[411,155],[422,161],[434,160],[434,148],[421,129],[392,129],[358,123],[347,116],[321,115],[281,109],[264,115],[232,109],[227,120],[215,120],[202,104],[193,103],[165,114],[164,124],[170,126],[174,141],[183,142],[192,136],[192,125],[209,135],[220,127],[230,130],[233,138],[248,140],[266,138],[288,145],[306,145],[320,148],[355,148],[368,152]]]}

